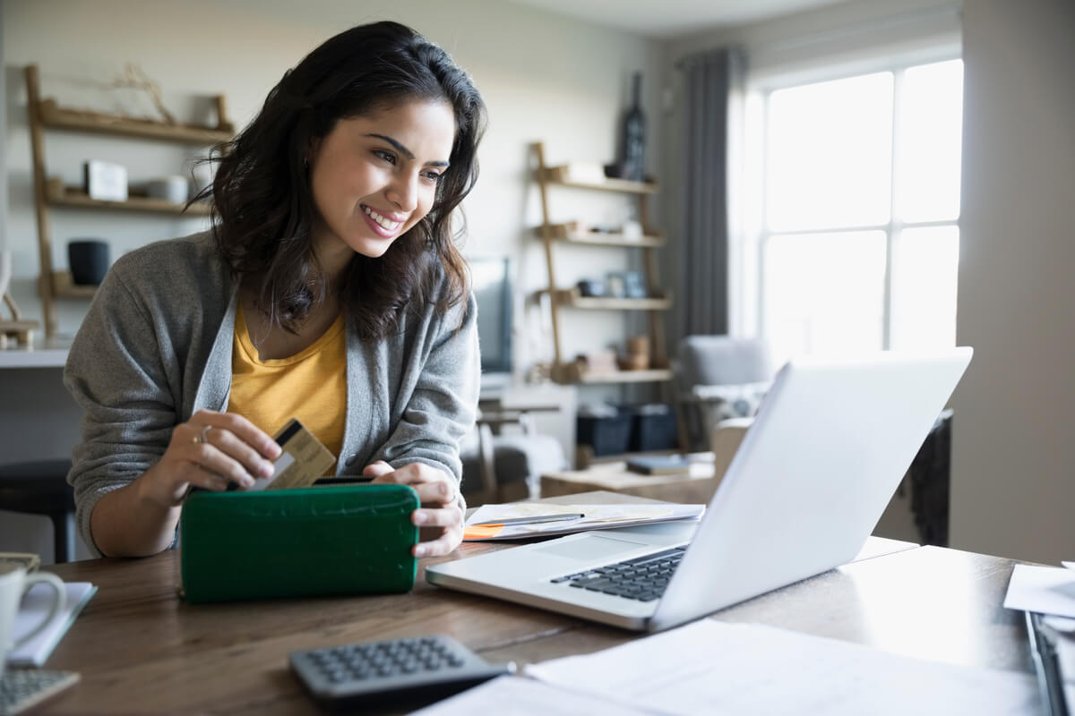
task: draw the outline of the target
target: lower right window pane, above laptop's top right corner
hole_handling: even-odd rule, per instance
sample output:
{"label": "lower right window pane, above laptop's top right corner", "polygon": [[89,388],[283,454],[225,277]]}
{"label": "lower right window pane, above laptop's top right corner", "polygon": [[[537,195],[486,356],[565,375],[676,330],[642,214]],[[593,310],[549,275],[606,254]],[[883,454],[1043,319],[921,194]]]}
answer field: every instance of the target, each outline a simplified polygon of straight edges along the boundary
{"label": "lower right window pane, above laptop's top right corner", "polygon": [[959,229],[906,229],[895,245],[892,348],[956,345]]}

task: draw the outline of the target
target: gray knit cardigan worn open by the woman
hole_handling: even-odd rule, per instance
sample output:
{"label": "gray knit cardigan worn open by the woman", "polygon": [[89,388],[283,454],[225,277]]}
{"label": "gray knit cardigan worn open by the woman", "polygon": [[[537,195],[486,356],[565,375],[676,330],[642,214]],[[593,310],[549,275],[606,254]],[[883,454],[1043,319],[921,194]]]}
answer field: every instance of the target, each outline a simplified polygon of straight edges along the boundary
{"label": "gray knit cardigan worn open by the woman", "polygon": [[[126,254],[97,291],[63,371],[83,410],[68,482],[96,554],[97,501],[159,461],[177,424],[227,408],[238,288],[202,233]],[[411,313],[397,335],[375,342],[360,340],[348,320],[336,473],[384,459],[425,463],[459,481],[459,440],[474,425],[479,370],[473,295],[445,316],[432,305]]]}

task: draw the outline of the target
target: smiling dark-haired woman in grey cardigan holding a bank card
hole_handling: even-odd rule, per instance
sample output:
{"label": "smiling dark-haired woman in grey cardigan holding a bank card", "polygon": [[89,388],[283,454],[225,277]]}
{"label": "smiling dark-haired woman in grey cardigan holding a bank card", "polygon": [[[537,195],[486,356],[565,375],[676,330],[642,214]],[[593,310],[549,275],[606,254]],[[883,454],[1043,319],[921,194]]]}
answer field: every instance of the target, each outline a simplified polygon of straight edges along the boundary
{"label": "smiling dark-haired woman in grey cardigan holding a bank card", "polygon": [[212,231],[116,262],[72,345],[69,481],[91,549],[174,545],[187,489],[271,474],[292,417],[335,474],[417,491],[415,556],[458,546],[479,368],[452,217],[484,122],[467,74],[396,23],[285,73],[215,152]]}

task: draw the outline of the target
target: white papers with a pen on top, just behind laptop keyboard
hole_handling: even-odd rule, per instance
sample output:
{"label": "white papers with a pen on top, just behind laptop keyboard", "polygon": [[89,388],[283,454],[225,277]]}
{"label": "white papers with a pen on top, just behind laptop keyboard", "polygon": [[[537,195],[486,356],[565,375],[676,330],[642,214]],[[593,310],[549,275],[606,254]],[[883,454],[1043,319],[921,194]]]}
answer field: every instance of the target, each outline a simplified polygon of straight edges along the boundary
{"label": "white papers with a pen on top, just behind laptop keyboard", "polygon": [[511,505],[483,505],[467,520],[467,526],[496,523],[499,520],[532,517],[549,514],[584,514],[582,520],[562,522],[540,522],[529,525],[505,525],[494,538],[485,539],[519,540],[544,535],[570,535],[590,529],[610,529],[655,522],[675,520],[698,520],[705,512],[704,505],[621,503],[621,505],[550,505],[548,502],[513,502]]}

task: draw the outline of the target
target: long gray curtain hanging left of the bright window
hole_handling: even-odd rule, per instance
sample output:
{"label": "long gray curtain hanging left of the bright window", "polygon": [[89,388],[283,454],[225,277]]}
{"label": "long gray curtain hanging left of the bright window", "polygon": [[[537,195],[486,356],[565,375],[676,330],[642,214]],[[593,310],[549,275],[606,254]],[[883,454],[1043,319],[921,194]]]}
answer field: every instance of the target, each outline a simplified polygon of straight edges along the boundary
{"label": "long gray curtain hanging left of the bright window", "polygon": [[728,333],[728,130],[745,55],[727,47],[688,57],[684,73],[684,174],[676,287],[680,336]]}

